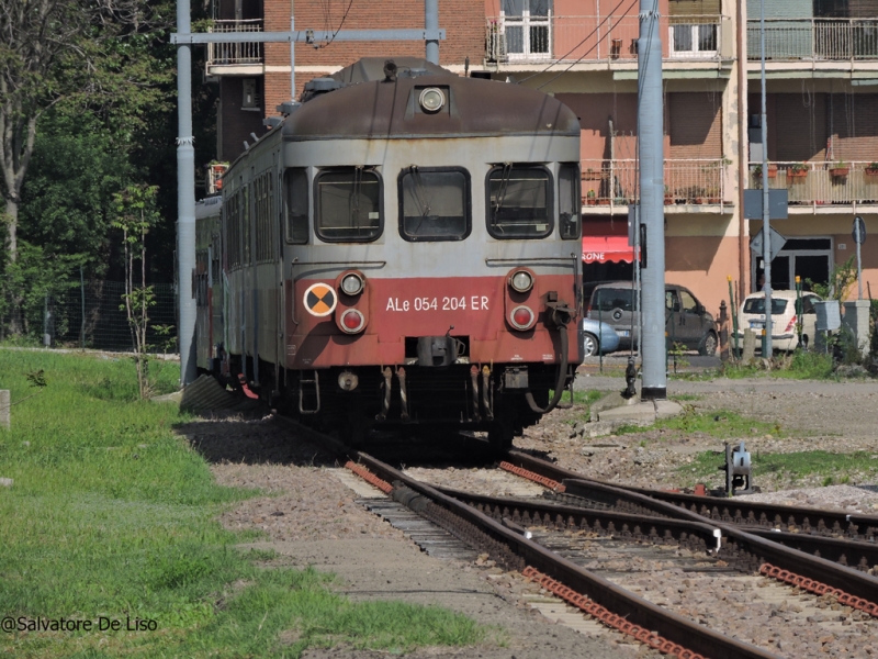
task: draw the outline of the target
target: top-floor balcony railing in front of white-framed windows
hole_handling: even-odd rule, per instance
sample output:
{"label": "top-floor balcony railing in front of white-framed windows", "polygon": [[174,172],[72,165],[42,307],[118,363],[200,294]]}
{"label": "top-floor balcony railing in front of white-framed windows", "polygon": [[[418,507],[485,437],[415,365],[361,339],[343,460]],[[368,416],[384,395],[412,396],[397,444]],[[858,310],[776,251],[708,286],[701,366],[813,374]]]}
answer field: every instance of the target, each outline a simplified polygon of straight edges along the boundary
{"label": "top-floor balcony railing in front of white-framed windows", "polygon": [[[719,59],[723,56],[721,15],[662,18],[663,57]],[[637,15],[488,18],[487,62],[635,60],[640,24]],[[731,55],[728,53],[727,55]]]}

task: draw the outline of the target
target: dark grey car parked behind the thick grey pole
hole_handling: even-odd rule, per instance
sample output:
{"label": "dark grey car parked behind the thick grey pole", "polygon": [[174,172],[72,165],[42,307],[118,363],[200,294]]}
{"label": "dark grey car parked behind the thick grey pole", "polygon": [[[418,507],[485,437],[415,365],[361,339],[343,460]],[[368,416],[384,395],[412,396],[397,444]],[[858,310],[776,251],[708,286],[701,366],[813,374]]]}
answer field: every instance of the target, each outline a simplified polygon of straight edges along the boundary
{"label": "dark grey car parked behind the thick grey pole", "polygon": [[[638,340],[639,316],[637,290],[630,281],[601,283],[592,292],[586,317],[609,323],[619,335],[621,349]],[[717,353],[713,316],[691,291],[676,283],[665,284],[665,332],[668,348],[679,344],[701,355]]]}

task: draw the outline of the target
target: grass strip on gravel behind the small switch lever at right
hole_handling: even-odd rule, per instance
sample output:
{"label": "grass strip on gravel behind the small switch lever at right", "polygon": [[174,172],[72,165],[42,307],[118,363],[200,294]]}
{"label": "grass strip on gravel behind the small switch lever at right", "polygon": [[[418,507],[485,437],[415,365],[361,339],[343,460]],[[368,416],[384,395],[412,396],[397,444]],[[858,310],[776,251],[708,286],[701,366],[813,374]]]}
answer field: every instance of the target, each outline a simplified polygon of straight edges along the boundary
{"label": "grass strip on gravel behind the small switch lever at right", "polygon": [[[834,483],[847,483],[851,473],[870,472],[878,474],[878,460],[875,454],[857,451],[852,454],[834,454],[825,450],[810,450],[789,454],[753,454],[753,478],[758,484],[758,477],[781,477],[791,482],[813,482],[823,487]],[[688,465],[679,467],[678,471],[688,484],[716,478],[717,467],[723,458],[713,451],[696,456]]]}

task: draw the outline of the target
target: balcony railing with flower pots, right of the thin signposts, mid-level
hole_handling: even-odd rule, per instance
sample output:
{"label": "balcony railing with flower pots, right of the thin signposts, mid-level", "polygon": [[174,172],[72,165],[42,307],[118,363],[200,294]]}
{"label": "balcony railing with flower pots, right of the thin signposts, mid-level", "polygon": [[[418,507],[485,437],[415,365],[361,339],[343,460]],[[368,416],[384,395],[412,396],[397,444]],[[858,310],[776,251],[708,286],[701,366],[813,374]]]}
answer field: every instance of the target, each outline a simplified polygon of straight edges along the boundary
{"label": "balcony railing with flower pots, right of the thin signposts, mid-level", "polygon": [[[758,164],[751,163],[750,187],[762,189]],[[878,163],[769,163],[768,188],[786,188],[790,205],[878,203]]]}

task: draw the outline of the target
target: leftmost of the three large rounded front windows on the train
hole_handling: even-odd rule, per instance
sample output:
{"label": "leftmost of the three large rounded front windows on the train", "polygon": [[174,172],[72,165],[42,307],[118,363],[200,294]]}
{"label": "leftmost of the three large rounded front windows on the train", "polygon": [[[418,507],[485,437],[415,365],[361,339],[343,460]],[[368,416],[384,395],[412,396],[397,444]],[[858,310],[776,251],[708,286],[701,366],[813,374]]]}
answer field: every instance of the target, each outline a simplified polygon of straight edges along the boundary
{"label": "leftmost of the three large rounded front windows on the train", "polygon": [[325,169],[315,179],[316,233],[336,243],[365,243],[381,235],[381,178],[363,167]]}

